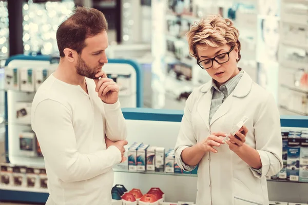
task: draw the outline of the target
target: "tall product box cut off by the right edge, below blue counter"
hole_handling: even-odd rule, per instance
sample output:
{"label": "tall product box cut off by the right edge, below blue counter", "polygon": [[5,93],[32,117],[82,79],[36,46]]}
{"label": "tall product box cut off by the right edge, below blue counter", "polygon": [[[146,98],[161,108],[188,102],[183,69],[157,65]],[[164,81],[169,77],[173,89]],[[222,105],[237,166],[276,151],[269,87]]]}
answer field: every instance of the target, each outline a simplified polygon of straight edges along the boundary
{"label": "tall product box cut off by the right edge, below blue counter", "polygon": [[305,131],[300,142],[299,181],[308,182],[308,132]]}

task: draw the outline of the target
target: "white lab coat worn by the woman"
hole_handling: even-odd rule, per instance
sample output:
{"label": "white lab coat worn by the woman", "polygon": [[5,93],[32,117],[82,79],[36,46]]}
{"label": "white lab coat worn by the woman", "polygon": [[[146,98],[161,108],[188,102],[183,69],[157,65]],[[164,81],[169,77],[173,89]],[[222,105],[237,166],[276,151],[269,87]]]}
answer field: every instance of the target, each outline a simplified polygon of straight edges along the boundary
{"label": "white lab coat worn by the woman", "polygon": [[228,145],[222,145],[217,148],[218,153],[206,153],[199,162],[196,204],[268,204],[265,176],[275,175],[283,165],[280,115],[274,97],[244,72],[209,123],[210,88],[211,81],[192,92],[186,101],[175,147],[178,165],[183,169],[179,158],[185,148],[204,140],[211,132],[229,133],[246,115],[246,144],[259,152],[262,175]]}

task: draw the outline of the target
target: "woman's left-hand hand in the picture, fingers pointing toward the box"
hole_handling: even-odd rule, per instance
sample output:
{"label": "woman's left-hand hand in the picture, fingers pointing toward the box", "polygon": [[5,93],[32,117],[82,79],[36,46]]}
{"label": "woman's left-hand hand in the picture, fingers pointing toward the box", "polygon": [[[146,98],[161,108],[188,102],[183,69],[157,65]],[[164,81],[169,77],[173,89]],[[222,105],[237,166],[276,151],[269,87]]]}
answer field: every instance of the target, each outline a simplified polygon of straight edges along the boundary
{"label": "woman's left-hand hand in the picture, fingers pointing toward the box", "polygon": [[213,147],[220,147],[221,144],[224,144],[223,139],[219,138],[220,136],[227,136],[226,133],[223,132],[214,132],[211,133],[206,139],[199,142],[197,145],[200,150],[204,152],[214,152],[217,153],[217,150]]}

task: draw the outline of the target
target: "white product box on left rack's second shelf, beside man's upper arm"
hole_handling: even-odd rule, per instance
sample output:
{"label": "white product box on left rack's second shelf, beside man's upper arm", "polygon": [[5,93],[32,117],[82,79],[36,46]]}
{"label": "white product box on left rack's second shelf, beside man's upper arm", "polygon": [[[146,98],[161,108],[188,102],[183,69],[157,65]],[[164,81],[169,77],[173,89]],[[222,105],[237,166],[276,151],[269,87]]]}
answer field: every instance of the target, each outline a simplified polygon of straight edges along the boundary
{"label": "white product box on left rack's second shelf, beside man's upper arm", "polygon": [[16,109],[16,122],[31,125],[31,106],[32,103],[17,101],[15,104]]}

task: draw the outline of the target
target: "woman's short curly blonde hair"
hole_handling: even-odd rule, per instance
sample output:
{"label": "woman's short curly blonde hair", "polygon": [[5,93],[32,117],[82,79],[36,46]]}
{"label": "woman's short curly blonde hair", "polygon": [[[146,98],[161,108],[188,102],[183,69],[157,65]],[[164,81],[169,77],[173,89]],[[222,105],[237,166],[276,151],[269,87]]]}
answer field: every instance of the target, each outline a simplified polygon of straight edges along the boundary
{"label": "woman's short curly blonde hair", "polygon": [[199,22],[195,22],[186,34],[189,54],[198,59],[198,47],[218,47],[225,44],[238,46],[237,61],[241,59],[241,43],[239,42],[239,31],[235,28],[233,22],[220,15],[209,15]]}

